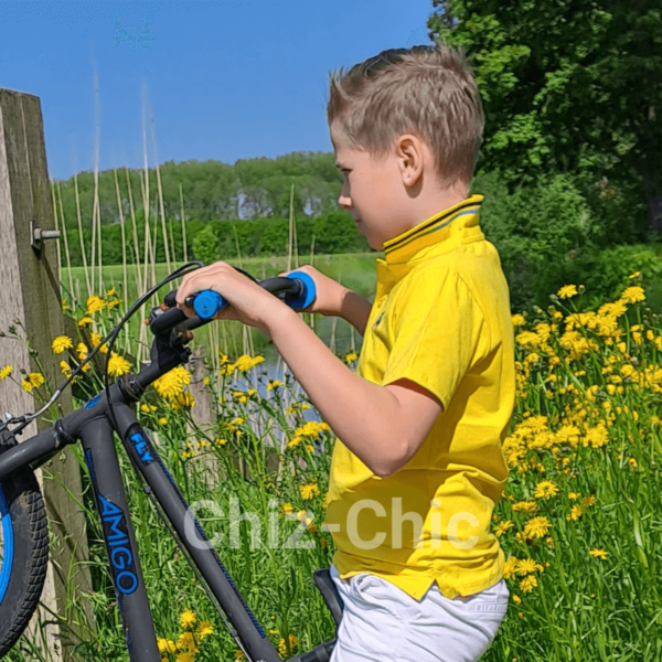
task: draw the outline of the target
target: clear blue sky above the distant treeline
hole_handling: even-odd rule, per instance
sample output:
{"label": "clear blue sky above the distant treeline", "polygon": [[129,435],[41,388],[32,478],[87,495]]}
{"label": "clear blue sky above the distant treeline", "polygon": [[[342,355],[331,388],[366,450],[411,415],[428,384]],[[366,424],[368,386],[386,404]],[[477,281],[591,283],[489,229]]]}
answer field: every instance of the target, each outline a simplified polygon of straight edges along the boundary
{"label": "clear blue sky above the distant treeline", "polygon": [[[49,174],[332,151],[331,70],[429,44],[431,0],[4,2],[0,87],[40,97]],[[153,125],[150,117],[153,117]]]}

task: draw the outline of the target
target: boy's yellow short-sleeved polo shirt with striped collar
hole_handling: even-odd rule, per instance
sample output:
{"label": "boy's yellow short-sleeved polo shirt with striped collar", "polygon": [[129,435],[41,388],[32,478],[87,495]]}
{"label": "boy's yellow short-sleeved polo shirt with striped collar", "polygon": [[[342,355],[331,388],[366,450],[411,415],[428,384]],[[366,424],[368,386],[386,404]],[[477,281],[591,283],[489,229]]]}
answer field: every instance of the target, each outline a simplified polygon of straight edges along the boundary
{"label": "boy's yellow short-sleeved polo shirt with striped collar", "polygon": [[325,524],[341,578],[372,573],[420,599],[493,586],[504,555],[490,533],[508,478],[501,442],[515,403],[508,282],[472,195],[384,244],[357,374],[412,380],[444,409],[409,462],[374,474],[333,448]]}

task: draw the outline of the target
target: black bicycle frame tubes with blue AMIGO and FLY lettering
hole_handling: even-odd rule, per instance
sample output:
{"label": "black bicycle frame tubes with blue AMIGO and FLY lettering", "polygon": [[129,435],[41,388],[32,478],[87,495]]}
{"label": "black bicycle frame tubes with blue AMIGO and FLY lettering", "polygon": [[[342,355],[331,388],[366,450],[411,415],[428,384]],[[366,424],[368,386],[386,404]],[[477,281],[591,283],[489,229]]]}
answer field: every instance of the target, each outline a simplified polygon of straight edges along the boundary
{"label": "black bicycle frame tubes with blue AMIGO and FLY lettering", "polygon": [[[197,519],[163,465],[150,437],[136,419],[129,404],[139,399],[145,387],[160,374],[183,363],[181,354],[152,364],[138,375],[125,375],[110,387],[113,417],[106,393],[92,398],[82,408],[0,455],[0,482],[23,467],[36,468],[63,446],[81,441],[89,472],[99,517],[103,524],[110,573],[129,651],[134,662],[160,662],[154,626],[138,558],[117,450],[113,433],[117,433],[134,469],[152,492],[162,514],[177,534],[214,599],[225,612],[234,630],[231,634],[250,662],[281,662],[278,651],[250,611],[226,567],[209,543]],[[193,535],[192,535],[193,534]],[[328,661],[335,640],[313,651],[296,655],[289,662]]]}

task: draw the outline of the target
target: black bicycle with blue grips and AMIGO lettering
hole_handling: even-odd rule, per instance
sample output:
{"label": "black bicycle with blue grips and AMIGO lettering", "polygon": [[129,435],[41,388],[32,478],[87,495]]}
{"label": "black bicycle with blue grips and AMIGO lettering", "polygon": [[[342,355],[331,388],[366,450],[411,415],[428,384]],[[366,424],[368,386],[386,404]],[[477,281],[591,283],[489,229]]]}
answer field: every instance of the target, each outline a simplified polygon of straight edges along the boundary
{"label": "black bicycle with blue grips and AMIGO lettering", "polygon": [[[185,344],[194,329],[212,321],[227,301],[213,290],[199,292],[186,300],[195,310],[188,318],[175,307],[177,290],[169,292],[164,305],[153,308],[149,327],[153,334],[150,350],[151,362],[138,374],[127,374],[108,383],[108,364],[104,375],[105,389],[83,407],[60,418],[55,424],[34,437],[17,442],[22,429],[56,399],[83,365],[108,342],[110,356],[121,327],[142,302],[166,282],[184,273],[204,266],[188,263],[170,274],[164,280],[146,292],[127,312],[120,323],[99,343],[86,361],[78,365],[67,382],[35,414],[13,417],[0,424],[0,659],[15,644],[36,609],[49,557],[47,525],[44,501],[34,470],[47,461],[64,446],[81,442],[85,466],[89,473],[98,515],[113,577],[117,605],[131,662],[160,662],[138,548],[131,526],[127,496],[122,485],[121,470],[114,434],[117,434],[127,452],[132,469],[143,482],[143,489],[163,519],[170,534],[182,549],[199,577],[212,604],[228,627],[231,634],[249,662],[280,662],[278,651],[267,638],[236,584],[229,576],[197,521],[172,474],[161,460],[149,435],[138,423],[131,405],[140,401],[147,387],[162,374],[183,365],[191,355]],[[186,271],[189,269],[189,271]],[[296,310],[310,306],[314,299],[314,281],[303,271],[286,277],[258,281],[267,291],[280,298]],[[10,429],[10,424],[18,424]],[[193,520],[200,538],[192,544],[185,533],[186,517]],[[314,583],[322,594],[335,621],[337,630],[342,617],[342,599],[329,569],[314,573]],[[327,662],[335,639],[323,642],[312,651],[290,658],[288,662]]]}

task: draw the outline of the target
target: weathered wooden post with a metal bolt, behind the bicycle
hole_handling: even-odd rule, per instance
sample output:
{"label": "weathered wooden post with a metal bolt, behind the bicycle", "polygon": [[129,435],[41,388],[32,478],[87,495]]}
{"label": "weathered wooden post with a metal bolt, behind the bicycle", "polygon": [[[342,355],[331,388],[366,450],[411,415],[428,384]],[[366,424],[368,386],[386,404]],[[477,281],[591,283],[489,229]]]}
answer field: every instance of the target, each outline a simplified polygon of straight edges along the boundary
{"label": "weathered wooden post with a metal bolt, behind the bicycle", "polygon": [[[54,389],[63,376],[60,356],[51,350],[53,338],[71,329],[62,312],[60,273],[54,241],[43,242],[38,254],[32,247],[31,226],[54,229],[53,205],[46,168],[41,105],[38,97],[0,89],[0,331],[18,318],[43,366],[44,377]],[[67,324],[68,322],[68,324]],[[21,331],[19,329],[19,331]],[[72,333],[68,333],[72,335]],[[74,337],[75,338],[75,337]],[[0,338],[2,365],[41,372],[34,357],[17,340]],[[41,392],[45,395],[44,387]],[[41,401],[11,380],[0,382],[0,413],[26,414],[40,408]],[[71,391],[65,391],[49,410],[49,418],[72,410]],[[50,427],[32,423],[19,441]],[[71,653],[85,628],[93,628],[93,610],[84,597],[92,591],[81,469],[71,447],[50,460],[39,472],[49,514],[51,563],[42,595],[43,620],[60,624],[47,631],[45,659],[76,660]],[[77,602],[82,610],[73,609]],[[86,620],[87,623],[82,623]],[[34,623],[34,621],[33,621]],[[35,637],[36,639],[36,637]]]}

